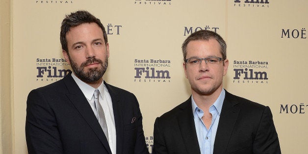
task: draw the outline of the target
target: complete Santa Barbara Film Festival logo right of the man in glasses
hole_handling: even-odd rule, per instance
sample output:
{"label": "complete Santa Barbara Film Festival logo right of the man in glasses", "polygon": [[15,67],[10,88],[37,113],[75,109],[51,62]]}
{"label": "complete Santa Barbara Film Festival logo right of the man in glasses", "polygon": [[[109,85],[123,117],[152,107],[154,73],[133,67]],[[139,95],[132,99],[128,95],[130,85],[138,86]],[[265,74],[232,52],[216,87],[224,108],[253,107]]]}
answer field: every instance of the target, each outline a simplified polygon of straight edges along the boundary
{"label": "complete Santa Barbara Film Festival logo right of the man in glasses", "polygon": [[267,84],[269,82],[268,61],[233,60],[231,64],[234,84]]}

